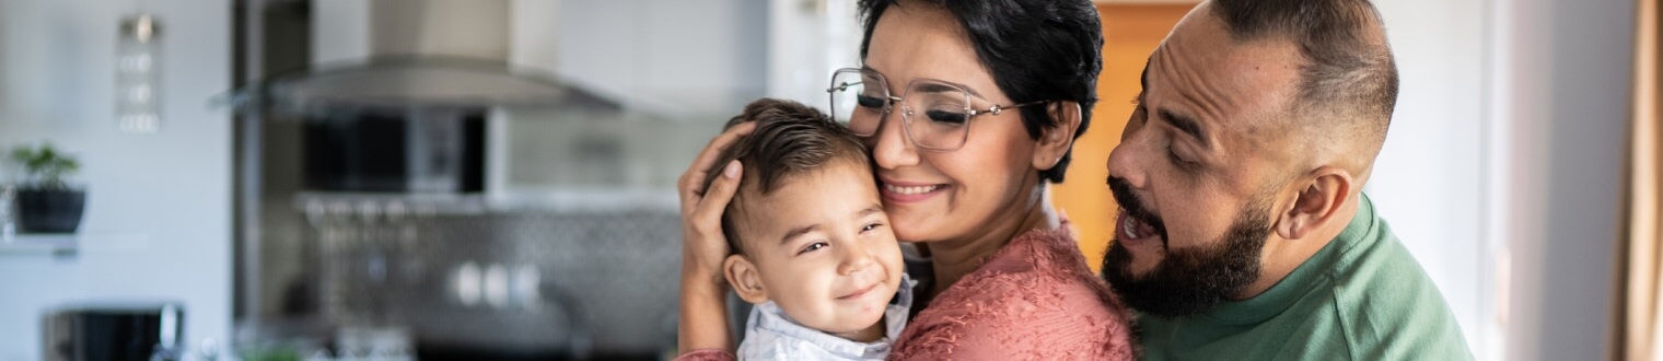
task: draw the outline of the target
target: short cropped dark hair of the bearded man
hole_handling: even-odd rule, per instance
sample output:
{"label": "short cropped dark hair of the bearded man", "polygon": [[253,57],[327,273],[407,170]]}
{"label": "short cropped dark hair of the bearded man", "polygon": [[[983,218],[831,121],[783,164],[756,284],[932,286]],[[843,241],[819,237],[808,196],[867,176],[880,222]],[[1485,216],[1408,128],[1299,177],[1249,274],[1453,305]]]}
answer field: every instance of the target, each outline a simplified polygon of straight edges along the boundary
{"label": "short cropped dark hair of the bearded man", "polygon": [[[1397,106],[1397,62],[1380,12],[1369,0],[1212,0],[1236,42],[1285,40],[1299,47],[1294,111],[1362,135],[1374,151]],[[1372,156],[1370,156],[1372,160]]]}

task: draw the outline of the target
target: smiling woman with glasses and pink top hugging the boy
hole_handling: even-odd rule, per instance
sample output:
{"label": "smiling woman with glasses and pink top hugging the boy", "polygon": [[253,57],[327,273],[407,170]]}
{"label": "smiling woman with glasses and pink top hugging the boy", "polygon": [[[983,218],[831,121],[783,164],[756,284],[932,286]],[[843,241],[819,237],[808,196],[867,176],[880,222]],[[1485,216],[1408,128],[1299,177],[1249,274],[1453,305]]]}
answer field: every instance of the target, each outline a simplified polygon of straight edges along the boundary
{"label": "smiling woman with glasses and pink top hugging the boy", "polygon": [[[896,236],[930,256],[891,359],[1128,359],[1129,316],[1051,206],[1089,125],[1101,25],[1088,0],[863,0],[863,88],[850,128],[871,146]],[[840,80],[841,78],[841,80]],[[848,82],[845,82],[848,80]],[[682,175],[683,359],[732,359],[720,213],[737,165],[702,190],[710,141]]]}

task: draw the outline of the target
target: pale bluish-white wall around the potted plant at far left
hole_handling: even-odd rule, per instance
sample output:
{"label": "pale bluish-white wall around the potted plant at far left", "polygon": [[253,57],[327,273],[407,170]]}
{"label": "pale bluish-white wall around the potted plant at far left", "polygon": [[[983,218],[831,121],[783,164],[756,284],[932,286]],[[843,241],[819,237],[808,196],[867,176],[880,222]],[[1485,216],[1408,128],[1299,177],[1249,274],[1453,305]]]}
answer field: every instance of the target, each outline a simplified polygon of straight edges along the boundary
{"label": "pale bluish-white wall around the potted plant at far left", "polygon": [[0,359],[40,359],[42,311],[70,301],[176,299],[193,348],[229,334],[231,121],[208,105],[231,83],[229,2],[145,2],[163,27],[155,135],[120,133],[111,110],[116,25],[133,5],[0,2],[0,146],[52,140],[80,155],[83,233],[143,240],[68,258],[0,253]]}

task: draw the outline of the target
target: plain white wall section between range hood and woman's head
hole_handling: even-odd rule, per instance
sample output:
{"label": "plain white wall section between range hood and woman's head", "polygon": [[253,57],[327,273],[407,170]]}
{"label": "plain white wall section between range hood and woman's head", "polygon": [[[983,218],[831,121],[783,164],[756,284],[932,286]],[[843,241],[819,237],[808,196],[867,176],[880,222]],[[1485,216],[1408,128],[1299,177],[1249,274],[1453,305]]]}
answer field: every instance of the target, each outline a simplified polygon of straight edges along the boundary
{"label": "plain white wall section between range hood and woman's head", "polygon": [[555,73],[630,106],[732,116],[767,88],[765,0],[577,0],[559,12]]}

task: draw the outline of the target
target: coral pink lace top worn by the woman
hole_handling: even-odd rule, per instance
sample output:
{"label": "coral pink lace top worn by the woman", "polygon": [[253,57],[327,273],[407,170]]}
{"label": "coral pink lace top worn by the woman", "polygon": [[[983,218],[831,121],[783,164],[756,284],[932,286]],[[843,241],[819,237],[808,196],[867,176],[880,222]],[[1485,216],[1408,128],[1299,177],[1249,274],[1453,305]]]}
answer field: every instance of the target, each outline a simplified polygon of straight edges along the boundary
{"label": "coral pink lace top worn by the woman", "polygon": [[[901,331],[890,359],[1134,359],[1131,314],[1069,230],[1011,240],[936,294]],[[698,349],[685,361],[727,361]]]}

